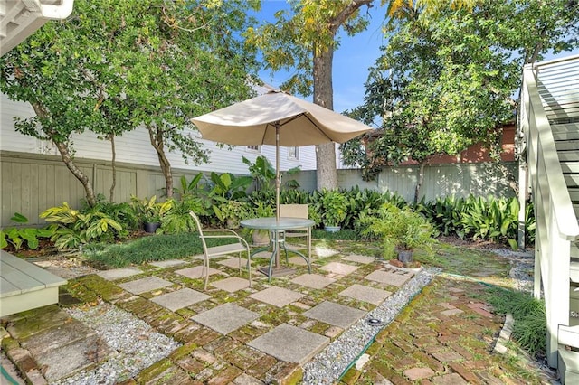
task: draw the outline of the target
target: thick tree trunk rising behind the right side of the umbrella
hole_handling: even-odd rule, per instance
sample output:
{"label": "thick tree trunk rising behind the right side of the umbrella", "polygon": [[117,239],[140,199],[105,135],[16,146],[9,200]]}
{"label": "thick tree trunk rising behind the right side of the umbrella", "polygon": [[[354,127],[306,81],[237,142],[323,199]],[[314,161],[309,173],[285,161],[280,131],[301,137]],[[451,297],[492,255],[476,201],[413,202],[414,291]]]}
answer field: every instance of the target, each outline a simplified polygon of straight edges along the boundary
{"label": "thick tree trunk rising behind the right side of the umbrella", "polygon": [[[328,109],[334,109],[333,59],[332,48],[314,55],[314,103]],[[318,190],[336,188],[336,146],[334,143],[316,146],[316,164]]]}

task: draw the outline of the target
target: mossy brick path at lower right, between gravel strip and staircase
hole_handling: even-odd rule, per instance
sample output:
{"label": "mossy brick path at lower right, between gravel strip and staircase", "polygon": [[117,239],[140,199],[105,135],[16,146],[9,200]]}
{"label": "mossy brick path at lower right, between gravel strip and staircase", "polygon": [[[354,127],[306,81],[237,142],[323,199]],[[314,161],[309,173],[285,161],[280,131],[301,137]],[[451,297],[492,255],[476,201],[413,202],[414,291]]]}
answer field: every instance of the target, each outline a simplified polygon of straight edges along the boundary
{"label": "mossy brick path at lower right, between gravel strip and staircase", "polygon": [[524,356],[493,352],[504,317],[493,315],[485,304],[487,289],[477,282],[436,277],[376,335],[341,383],[552,383]]}

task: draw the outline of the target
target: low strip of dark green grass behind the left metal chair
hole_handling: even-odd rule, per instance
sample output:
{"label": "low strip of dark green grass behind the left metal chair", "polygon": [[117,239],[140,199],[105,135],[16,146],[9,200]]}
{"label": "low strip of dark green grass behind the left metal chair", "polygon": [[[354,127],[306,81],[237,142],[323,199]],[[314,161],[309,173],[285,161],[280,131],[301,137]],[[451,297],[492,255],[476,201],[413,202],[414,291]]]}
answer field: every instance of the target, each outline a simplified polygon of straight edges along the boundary
{"label": "low strip of dark green grass behind the left metal chair", "polygon": [[[207,246],[231,243],[232,239],[207,239]],[[196,233],[153,235],[126,243],[89,244],[83,249],[90,264],[104,268],[123,268],[155,260],[181,259],[203,254],[203,245]]]}

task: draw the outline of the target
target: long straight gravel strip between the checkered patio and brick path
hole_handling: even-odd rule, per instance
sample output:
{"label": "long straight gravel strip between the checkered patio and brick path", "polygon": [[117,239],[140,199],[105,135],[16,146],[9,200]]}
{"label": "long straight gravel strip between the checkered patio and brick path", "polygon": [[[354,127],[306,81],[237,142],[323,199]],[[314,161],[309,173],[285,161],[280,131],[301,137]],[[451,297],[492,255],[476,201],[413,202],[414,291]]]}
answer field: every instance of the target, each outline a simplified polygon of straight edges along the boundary
{"label": "long straight gravel strip between the checkered patio and brick path", "polygon": [[[421,290],[428,285],[433,277],[440,273],[438,268],[422,268],[393,296],[370,312],[365,318],[358,320],[356,324],[348,328],[326,349],[319,352],[314,358],[304,365],[305,384],[333,384],[351,363],[354,363],[358,355],[365,350],[375,335],[385,326],[390,324],[396,315],[400,313]],[[368,324],[368,319],[378,319],[379,325]]]}

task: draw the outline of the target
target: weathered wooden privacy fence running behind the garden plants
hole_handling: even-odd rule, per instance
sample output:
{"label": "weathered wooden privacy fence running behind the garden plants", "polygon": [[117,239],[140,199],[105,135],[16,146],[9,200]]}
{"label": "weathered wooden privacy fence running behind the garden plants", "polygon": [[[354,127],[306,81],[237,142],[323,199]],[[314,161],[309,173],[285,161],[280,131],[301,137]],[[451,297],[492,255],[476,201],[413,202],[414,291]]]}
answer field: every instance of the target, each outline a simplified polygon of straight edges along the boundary
{"label": "weathered wooden privacy fence running behind the garden plants", "polygon": [[[100,160],[76,159],[82,172],[89,175],[95,192],[109,199],[112,183],[110,163]],[[174,169],[175,184],[181,175],[187,180],[198,174],[195,170]],[[362,180],[359,170],[338,170],[340,187],[375,189],[381,192],[398,192],[412,202],[417,180],[417,166],[390,167],[375,181]],[[292,175],[300,188],[308,191],[316,189],[316,172],[304,171]],[[495,195],[515,196],[511,181],[517,180],[517,164],[436,164],[425,168],[422,195],[426,200],[438,196],[455,194],[458,196]],[[27,153],[0,153],[0,227],[13,226],[10,218],[20,212],[28,218],[28,225],[44,222],[39,214],[49,207],[68,202],[79,208],[84,198],[81,183],[62,163],[59,156],[33,155]],[[114,192],[116,202],[128,202],[130,195],[139,198],[161,196],[165,179],[158,167],[139,164],[117,164],[117,184]]]}

